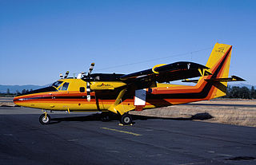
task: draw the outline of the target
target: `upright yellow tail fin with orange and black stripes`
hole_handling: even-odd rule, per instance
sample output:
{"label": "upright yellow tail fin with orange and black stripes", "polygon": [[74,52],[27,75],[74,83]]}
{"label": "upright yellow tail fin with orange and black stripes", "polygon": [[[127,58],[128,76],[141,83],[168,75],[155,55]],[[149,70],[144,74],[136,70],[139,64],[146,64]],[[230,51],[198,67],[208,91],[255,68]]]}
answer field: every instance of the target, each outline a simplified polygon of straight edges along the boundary
{"label": "upright yellow tail fin with orange and black stripes", "polygon": [[202,84],[206,86],[210,85],[210,91],[208,91],[208,95],[206,96],[208,100],[219,96],[226,96],[227,81],[209,80],[218,80],[229,76],[231,51],[232,45],[216,43],[210,53],[206,66],[210,68],[212,75],[201,77],[197,84],[200,86]]}

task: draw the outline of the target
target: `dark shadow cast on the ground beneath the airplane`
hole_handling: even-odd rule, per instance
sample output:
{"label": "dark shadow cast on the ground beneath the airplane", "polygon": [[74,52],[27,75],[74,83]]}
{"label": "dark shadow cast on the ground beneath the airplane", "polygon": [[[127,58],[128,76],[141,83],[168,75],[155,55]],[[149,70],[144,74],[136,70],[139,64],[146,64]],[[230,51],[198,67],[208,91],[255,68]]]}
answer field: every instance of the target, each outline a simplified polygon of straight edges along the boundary
{"label": "dark shadow cast on the ground beneath the airplane", "polygon": [[[154,119],[162,119],[162,120],[209,120],[212,119],[213,116],[211,116],[209,113],[198,113],[194,116],[183,118],[166,118],[166,117],[154,117],[154,116],[138,116],[138,115],[131,115],[133,120],[154,120]],[[89,116],[74,116],[74,117],[61,117],[61,118],[52,118],[51,124],[58,124],[62,121],[99,121],[101,120],[101,115],[99,113],[95,113]],[[118,115],[112,115],[110,116],[110,120],[119,120]]]}

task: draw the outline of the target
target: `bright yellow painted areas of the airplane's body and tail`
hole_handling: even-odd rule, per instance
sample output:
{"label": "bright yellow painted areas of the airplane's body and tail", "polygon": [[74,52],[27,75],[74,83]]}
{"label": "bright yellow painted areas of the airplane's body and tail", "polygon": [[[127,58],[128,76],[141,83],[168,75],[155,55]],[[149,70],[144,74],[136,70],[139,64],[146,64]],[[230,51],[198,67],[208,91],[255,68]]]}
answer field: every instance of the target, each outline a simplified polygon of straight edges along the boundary
{"label": "bright yellow painted areas of the airplane's body and tail", "polygon": [[[207,61],[206,66],[209,67],[210,69],[200,69],[199,72],[201,72],[202,77],[199,79],[198,84],[196,84],[196,86],[194,86],[194,88],[199,88],[200,85],[202,85],[203,83],[206,83],[205,79],[210,79],[211,75],[209,75],[209,73],[213,72],[213,69],[215,68],[216,65],[219,64],[219,61],[222,60],[222,57],[224,57],[224,55],[226,54],[226,52],[231,48],[231,45],[224,45],[224,44],[216,44],[214,46],[213,51],[210,54],[210,58]],[[228,54],[228,57],[226,59],[226,63],[225,65],[223,65],[223,69],[222,72],[218,74],[217,78],[226,78],[228,77],[229,74],[229,68],[230,68],[230,53]],[[162,65],[155,65],[152,68],[152,71],[154,73],[158,73],[156,71],[154,71],[154,69],[156,69],[157,67],[163,66]],[[91,88],[91,96],[94,96],[95,92],[94,90],[113,90],[115,88],[120,88],[123,87],[123,89],[119,92],[116,100],[114,101],[114,103],[110,100],[109,102],[107,102],[107,100],[104,100],[104,104],[102,103],[102,101],[98,102],[98,105],[96,104],[96,102],[94,100],[91,100],[90,102],[88,102],[86,100],[86,81],[82,81],[81,79],[60,79],[59,81],[62,81],[62,84],[60,84],[60,86],[62,86],[65,82],[69,83],[69,87],[68,90],[66,91],[62,91],[62,90],[58,90],[58,92],[42,92],[40,94],[42,95],[46,95],[48,97],[52,97],[52,100],[50,101],[34,101],[31,100],[31,102],[19,102],[18,105],[21,106],[25,106],[25,107],[31,107],[31,108],[42,108],[42,109],[49,109],[49,110],[54,110],[54,111],[66,111],[66,109],[68,109],[68,112],[97,112],[98,108],[100,110],[105,110],[105,111],[110,111],[110,112],[114,112],[114,113],[120,113],[121,115],[123,115],[126,112],[129,112],[131,110],[134,110],[135,106],[133,104],[133,100],[130,99],[129,101],[124,100],[124,102],[122,102],[122,97],[125,95],[127,88],[126,83],[122,82],[122,81],[90,81],[90,88]],[[213,82],[214,83],[214,92],[213,94],[210,96],[210,99],[215,98],[215,97],[219,97],[219,96],[225,96],[226,95],[226,86],[227,86],[227,82],[226,81],[217,81],[217,82]],[[83,87],[85,88],[84,92],[79,92],[80,88]],[[60,87],[58,87],[60,88]],[[170,88],[174,88],[174,89],[182,89],[182,90],[186,90],[186,89],[194,89],[191,88],[191,86],[188,85],[175,85],[175,84],[163,84],[163,83],[158,83],[156,84],[156,88],[152,88],[153,92],[156,91],[161,91],[161,90],[166,90],[166,89],[170,89]],[[179,91],[178,91],[179,92]],[[61,93],[61,94],[65,94],[65,95],[71,95],[71,94],[76,94],[82,93],[82,96],[84,97],[84,100],[77,100],[77,101],[70,101],[70,102],[66,102],[66,100],[58,100],[58,101],[54,101],[54,94],[56,93]],[[30,94],[27,96],[32,96],[35,94]],[[81,95],[80,95],[81,96]],[[19,96],[17,96],[18,98]],[[97,96],[96,96],[97,97]],[[172,101],[172,102],[171,102]],[[166,102],[170,102],[171,104],[182,104],[183,102],[181,100],[166,100]],[[189,101],[187,101],[189,102]],[[187,103],[186,101],[184,103]],[[156,105],[151,105],[150,103],[146,103],[145,108],[157,108],[161,107],[161,105],[156,104]]]}

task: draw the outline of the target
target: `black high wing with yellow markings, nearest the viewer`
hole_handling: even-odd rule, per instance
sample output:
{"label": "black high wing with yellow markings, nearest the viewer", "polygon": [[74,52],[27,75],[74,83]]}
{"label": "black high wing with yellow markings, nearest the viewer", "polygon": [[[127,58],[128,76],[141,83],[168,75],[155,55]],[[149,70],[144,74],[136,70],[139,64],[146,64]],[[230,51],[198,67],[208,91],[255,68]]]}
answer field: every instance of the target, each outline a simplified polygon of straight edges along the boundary
{"label": "black high wing with yellow markings, nearest the viewer", "polygon": [[169,65],[156,65],[152,69],[123,75],[120,79],[137,88],[152,88],[156,82],[178,81],[192,77],[211,75],[210,69],[194,62],[175,62]]}

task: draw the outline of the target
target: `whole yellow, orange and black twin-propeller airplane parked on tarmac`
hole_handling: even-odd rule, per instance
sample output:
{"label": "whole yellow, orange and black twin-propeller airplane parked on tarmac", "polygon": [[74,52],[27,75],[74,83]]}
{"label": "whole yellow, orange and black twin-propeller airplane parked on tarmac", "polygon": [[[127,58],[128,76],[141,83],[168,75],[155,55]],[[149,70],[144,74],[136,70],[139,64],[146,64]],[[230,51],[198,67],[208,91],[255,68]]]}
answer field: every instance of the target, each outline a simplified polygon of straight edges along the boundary
{"label": "whole yellow, orange and black twin-propeller airplane parked on tarmac", "polygon": [[[15,96],[14,104],[40,108],[41,124],[50,123],[47,111],[102,112],[102,121],[110,120],[110,114],[118,114],[121,124],[132,124],[130,111],[142,111],[225,96],[228,81],[245,81],[229,76],[232,45],[214,45],[206,65],[190,61],[155,65],[152,69],[130,74],[79,73],[61,79],[49,87]],[[190,78],[199,77],[198,80]],[[168,84],[170,81],[194,82],[194,86]]]}

